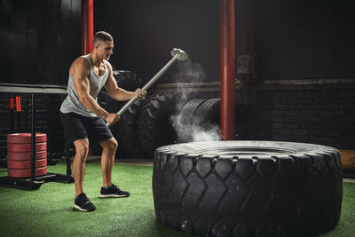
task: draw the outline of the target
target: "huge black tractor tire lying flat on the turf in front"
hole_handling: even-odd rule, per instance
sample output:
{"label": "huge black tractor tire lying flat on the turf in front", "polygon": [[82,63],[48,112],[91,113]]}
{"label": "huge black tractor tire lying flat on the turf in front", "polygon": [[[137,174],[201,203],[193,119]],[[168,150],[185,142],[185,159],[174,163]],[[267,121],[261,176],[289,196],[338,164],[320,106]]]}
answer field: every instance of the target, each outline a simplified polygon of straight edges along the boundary
{"label": "huge black tractor tire lying flat on the turf in front", "polygon": [[315,236],[343,200],[338,150],[272,141],[158,148],[154,208],[163,225],[201,236]]}

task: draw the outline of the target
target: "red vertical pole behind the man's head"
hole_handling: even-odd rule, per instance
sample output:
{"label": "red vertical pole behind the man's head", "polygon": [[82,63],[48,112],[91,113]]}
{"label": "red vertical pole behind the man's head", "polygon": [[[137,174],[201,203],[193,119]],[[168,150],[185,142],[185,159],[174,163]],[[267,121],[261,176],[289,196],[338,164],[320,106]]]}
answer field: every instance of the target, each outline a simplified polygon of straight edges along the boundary
{"label": "red vertical pole behind the man's head", "polygon": [[91,53],[94,36],[93,0],[82,0],[82,54]]}

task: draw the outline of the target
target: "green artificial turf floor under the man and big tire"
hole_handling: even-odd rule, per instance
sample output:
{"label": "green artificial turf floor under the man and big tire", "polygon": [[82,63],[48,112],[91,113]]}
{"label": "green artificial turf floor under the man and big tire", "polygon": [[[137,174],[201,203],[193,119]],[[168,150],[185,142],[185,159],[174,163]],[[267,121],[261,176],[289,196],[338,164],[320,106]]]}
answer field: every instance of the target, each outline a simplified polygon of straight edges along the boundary
{"label": "green artificial turf floor under the man and big tire", "polygon": [[[65,169],[64,163],[48,167],[57,173]],[[84,190],[97,207],[88,213],[73,209],[73,184],[45,183],[36,191],[0,187],[0,236],[187,236],[156,222],[152,171],[152,167],[115,164],[114,184],[131,195],[99,199],[100,164],[87,162]],[[321,236],[355,236],[355,184],[344,183],[343,194],[340,222]]]}

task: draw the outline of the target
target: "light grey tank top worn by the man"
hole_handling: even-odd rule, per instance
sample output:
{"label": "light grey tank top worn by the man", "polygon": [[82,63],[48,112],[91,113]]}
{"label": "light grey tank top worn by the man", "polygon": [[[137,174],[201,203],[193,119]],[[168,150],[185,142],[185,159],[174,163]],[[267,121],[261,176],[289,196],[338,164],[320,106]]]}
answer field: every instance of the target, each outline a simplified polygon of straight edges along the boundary
{"label": "light grey tank top worn by the man", "polygon": [[[109,75],[106,62],[104,60],[104,65],[105,65],[104,75],[98,76],[95,74],[92,68],[90,54],[84,55],[82,57],[87,59],[90,64],[90,75],[89,75],[90,95],[93,99],[98,100],[97,98],[99,95],[99,91],[101,91],[102,87],[104,87]],[[67,83],[67,98],[64,99],[63,103],[61,104],[60,112],[63,114],[74,112],[76,114],[87,116],[87,117],[97,116],[91,111],[89,111],[86,107],[84,107],[83,104],[79,101],[78,94],[75,91],[75,87],[73,83],[73,75],[71,75],[70,73],[69,73],[69,81]]]}

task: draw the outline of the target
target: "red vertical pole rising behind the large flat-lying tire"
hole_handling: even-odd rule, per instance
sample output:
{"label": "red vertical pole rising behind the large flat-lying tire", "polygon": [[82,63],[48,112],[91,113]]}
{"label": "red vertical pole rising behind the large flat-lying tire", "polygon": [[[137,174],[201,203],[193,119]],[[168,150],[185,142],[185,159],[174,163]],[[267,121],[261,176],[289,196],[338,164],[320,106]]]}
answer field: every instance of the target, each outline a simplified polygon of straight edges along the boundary
{"label": "red vertical pole rising behind the large flat-lying tire", "polygon": [[234,139],[234,0],[219,1],[221,53],[221,140]]}

